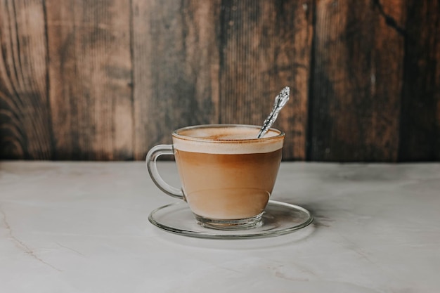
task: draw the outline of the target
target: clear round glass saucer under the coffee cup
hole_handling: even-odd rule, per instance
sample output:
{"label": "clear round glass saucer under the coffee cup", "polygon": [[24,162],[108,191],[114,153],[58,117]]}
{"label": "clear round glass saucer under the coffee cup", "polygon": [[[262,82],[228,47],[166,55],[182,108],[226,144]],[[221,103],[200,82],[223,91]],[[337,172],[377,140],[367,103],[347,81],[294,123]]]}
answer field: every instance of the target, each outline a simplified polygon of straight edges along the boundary
{"label": "clear round glass saucer under the coffee cup", "polygon": [[153,225],[169,233],[210,239],[244,239],[273,237],[292,233],[313,221],[310,212],[294,204],[269,200],[261,223],[245,230],[216,230],[205,228],[195,221],[186,202],[167,204],[148,216]]}

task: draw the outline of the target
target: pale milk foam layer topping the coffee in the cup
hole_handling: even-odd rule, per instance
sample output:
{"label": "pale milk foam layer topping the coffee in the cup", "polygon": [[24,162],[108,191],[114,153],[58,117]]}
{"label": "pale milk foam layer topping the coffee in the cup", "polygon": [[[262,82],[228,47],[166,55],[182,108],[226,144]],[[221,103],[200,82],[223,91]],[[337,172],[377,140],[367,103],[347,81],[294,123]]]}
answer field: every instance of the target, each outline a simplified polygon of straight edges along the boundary
{"label": "pale milk foam layer topping the coffee in the cup", "polygon": [[270,129],[264,138],[257,138],[258,132],[258,126],[189,127],[176,131],[173,143],[177,150],[208,154],[252,154],[283,148],[280,131]]}

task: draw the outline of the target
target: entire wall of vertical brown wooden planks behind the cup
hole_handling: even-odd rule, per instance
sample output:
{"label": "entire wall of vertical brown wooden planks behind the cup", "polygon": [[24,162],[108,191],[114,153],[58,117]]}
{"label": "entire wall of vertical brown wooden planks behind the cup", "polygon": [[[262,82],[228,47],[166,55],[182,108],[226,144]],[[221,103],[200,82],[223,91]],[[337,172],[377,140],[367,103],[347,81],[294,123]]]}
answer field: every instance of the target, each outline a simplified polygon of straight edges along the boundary
{"label": "entire wall of vertical brown wooden planks behind the cup", "polygon": [[143,159],[261,124],[284,159],[440,159],[439,0],[0,0],[0,159]]}

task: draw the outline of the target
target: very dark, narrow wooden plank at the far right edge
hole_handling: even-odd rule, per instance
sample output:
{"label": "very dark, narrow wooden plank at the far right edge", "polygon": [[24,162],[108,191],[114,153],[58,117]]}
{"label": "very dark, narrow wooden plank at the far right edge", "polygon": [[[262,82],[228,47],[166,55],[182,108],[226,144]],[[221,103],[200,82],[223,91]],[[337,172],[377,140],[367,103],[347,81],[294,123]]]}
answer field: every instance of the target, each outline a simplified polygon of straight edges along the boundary
{"label": "very dark, narrow wooden plank at the far right edge", "polygon": [[399,161],[438,161],[440,2],[407,2]]}

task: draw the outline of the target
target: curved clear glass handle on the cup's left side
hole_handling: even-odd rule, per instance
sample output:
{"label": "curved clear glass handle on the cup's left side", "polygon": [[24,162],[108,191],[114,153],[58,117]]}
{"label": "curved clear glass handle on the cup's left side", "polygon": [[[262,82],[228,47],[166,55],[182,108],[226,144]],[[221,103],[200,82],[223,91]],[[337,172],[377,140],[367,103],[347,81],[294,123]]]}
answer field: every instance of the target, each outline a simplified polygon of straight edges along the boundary
{"label": "curved clear glass handle on the cup's left side", "polygon": [[156,145],[148,152],[145,162],[151,179],[155,185],[167,195],[185,200],[185,196],[181,189],[169,185],[160,176],[156,164],[157,157],[160,155],[174,155],[173,145]]}

